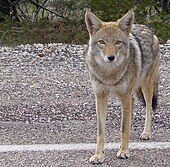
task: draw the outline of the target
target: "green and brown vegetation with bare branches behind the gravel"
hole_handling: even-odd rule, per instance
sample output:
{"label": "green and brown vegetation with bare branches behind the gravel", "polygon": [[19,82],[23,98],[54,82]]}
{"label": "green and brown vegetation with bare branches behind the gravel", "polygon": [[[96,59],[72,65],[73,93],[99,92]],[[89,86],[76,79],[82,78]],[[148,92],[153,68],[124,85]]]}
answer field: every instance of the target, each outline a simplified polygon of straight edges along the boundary
{"label": "green and brown vegetation with bare branches behind the gravel", "polygon": [[114,21],[133,8],[136,22],[150,26],[161,43],[170,37],[168,0],[2,0],[0,45],[87,43],[86,8],[105,21]]}

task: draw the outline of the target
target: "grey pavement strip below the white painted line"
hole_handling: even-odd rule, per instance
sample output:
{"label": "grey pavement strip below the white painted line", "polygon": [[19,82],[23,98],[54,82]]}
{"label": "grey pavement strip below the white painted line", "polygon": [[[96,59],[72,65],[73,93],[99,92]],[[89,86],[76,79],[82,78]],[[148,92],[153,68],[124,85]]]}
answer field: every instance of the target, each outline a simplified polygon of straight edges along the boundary
{"label": "grey pavement strip below the white painted line", "polygon": [[0,153],[0,164],[3,167],[169,167],[170,164],[169,149],[132,150],[127,160],[117,159],[116,151],[106,150],[105,161],[100,165],[88,162],[93,150]]}

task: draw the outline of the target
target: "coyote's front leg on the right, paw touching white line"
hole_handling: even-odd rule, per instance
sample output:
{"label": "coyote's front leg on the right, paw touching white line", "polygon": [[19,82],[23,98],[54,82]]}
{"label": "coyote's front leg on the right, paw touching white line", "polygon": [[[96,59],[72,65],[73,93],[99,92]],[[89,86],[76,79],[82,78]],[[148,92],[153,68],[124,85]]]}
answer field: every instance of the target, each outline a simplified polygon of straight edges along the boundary
{"label": "coyote's front leg on the right, paw touching white line", "polygon": [[120,96],[122,103],[122,127],[121,127],[121,147],[117,153],[118,158],[129,158],[129,138],[131,129],[131,116],[132,116],[132,95],[123,94]]}

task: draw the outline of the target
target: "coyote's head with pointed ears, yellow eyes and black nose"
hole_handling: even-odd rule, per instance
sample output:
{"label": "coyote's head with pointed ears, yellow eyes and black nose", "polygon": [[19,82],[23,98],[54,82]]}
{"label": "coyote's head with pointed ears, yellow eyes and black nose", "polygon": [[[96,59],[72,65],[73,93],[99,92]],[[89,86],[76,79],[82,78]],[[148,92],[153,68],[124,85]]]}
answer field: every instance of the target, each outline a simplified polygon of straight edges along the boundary
{"label": "coyote's head with pointed ears, yellow eyes and black nose", "polygon": [[129,11],[116,22],[103,22],[92,12],[87,11],[85,22],[90,36],[91,54],[109,64],[118,65],[125,61],[129,53],[128,36],[133,21],[133,11]]}

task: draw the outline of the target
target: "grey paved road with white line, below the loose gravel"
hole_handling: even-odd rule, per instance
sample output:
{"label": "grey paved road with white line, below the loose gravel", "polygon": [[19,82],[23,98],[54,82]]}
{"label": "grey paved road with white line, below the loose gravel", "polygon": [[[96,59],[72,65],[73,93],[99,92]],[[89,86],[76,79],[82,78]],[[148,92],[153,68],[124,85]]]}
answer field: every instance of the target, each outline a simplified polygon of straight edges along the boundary
{"label": "grey paved road with white line, below the loose gravel", "polygon": [[[75,147],[76,143],[94,143],[96,134],[96,121],[57,121],[54,123],[36,123],[25,124],[21,122],[4,123],[0,122],[0,143],[1,145],[29,145],[34,151],[17,151],[13,152],[7,149],[3,152],[3,147],[0,149],[0,166],[2,167],[91,167],[88,162],[89,157],[94,153],[94,145],[88,149],[79,149],[66,147]],[[109,122],[108,125],[111,125]],[[139,130],[139,131],[138,131]],[[140,143],[140,129],[134,130],[131,137],[131,142]],[[106,142],[119,142],[119,131],[113,126],[107,126]],[[169,142],[170,131],[154,130],[153,139],[146,143]],[[38,144],[38,149],[37,149]],[[47,151],[44,148],[39,148],[39,144],[47,144]],[[53,144],[62,146],[58,149],[49,148]],[[73,144],[73,145],[72,145]],[[169,142],[170,144],[170,142]],[[118,146],[113,145],[106,149],[106,159],[102,165],[106,167],[127,166],[127,167],[168,167],[170,164],[170,145],[168,148],[156,148],[159,144],[154,144],[154,148],[143,148],[143,143],[140,143],[140,149],[131,149],[131,158],[128,160],[117,159],[116,152]],[[42,145],[43,146],[43,145]],[[48,149],[49,148],[49,149]],[[60,151],[60,149],[62,151]],[[64,149],[64,150],[63,150]],[[75,149],[75,150],[74,150]],[[41,151],[39,151],[41,150]]]}

